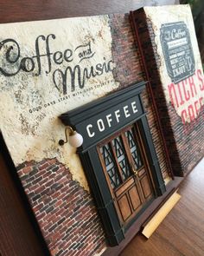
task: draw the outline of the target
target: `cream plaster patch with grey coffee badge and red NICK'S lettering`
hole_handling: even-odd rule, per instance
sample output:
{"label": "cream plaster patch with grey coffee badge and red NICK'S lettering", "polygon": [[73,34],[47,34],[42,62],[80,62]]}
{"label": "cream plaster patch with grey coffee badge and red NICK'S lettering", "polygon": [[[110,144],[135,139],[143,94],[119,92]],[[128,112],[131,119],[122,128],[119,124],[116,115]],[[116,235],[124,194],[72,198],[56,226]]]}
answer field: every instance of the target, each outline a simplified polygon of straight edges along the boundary
{"label": "cream plaster patch with grey coffee badge and red NICK'S lettering", "polygon": [[144,11],[165,101],[181,118],[183,130],[190,132],[189,124],[199,121],[204,106],[204,76],[190,6],[144,7]]}

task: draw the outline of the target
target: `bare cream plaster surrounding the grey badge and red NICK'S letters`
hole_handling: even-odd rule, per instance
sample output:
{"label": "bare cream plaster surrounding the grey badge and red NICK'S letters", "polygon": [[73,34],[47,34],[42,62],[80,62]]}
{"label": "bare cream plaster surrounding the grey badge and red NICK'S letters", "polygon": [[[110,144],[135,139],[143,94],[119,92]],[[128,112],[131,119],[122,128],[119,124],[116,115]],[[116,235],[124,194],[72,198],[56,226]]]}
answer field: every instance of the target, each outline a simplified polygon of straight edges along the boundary
{"label": "bare cream plaster surrounding the grey badge and red NICK'S letters", "polygon": [[[157,51],[157,54],[160,56],[160,61],[161,61],[161,66],[159,71],[160,71],[161,81],[163,83],[163,89],[166,95],[167,102],[170,102],[168,86],[169,84],[171,84],[171,79],[168,75],[165,60],[163,57],[163,49],[160,41],[160,29],[162,24],[164,23],[176,23],[176,22],[184,22],[188,27],[190,40],[191,40],[192,48],[194,52],[195,73],[192,76],[192,79],[194,79],[196,93],[192,93],[192,89],[194,92],[194,88],[191,88],[189,82],[185,82],[184,87],[186,89],[186,94],[189,93],[189,100],[186,101],[185,92],[182,88],[182,83],[180,85],[180,88],[177,85],[175,85],[175,93],[177,95],[178,104],[175,104],[174,107],[177,114],[181,117],[182,117],[182,111],[183,110],[186,111],[185,114],[183,113],[183,118],[185,118],[185,121],[190,122],[191,119],[188,113],[188,107],[190,105],[193,106],[194,117],[196,118],[197,115],[199,115],[201,105],[204,105],[204,90],[203,89],[201,90],[201,88],[203,87],[202,84],[204,82],[204,77],[202,72],[200,51],[198,48],[198,43],[197,43],[197,39],[194,32],[194,21],[193,21],[190,7],[188,5],[154,6],[154,7],[144,7],[144,11],[147,17],[150,19],[154,33],[155,33],[156,51]],[[197,74],[198,69],[201,70],[201,74],[199,73],[199,75]],[[202,79],[202,82],[201,82],[201,79]],[[176,102],[174,91],[172,90],[171,92],[172,92],[172,98],[174,102]],[[182,95],[182,99],[180,98],[180,93]],[[201,102],[200,102],[200,99],[201,99]]]}

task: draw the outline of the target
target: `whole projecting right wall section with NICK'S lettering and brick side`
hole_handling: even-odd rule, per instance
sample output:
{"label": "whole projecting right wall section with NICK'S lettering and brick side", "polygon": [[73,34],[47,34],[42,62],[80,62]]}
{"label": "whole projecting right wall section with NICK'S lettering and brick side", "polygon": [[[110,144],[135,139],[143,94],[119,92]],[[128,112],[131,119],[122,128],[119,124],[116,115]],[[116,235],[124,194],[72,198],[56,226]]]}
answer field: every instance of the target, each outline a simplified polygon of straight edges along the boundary
{"label": "whole projecting right wall section with NICK'S lettering and brick side", "polygon": [[172,167],[183,176],[204,152],[204,78],[191,10],[144,7],[135,16]]}

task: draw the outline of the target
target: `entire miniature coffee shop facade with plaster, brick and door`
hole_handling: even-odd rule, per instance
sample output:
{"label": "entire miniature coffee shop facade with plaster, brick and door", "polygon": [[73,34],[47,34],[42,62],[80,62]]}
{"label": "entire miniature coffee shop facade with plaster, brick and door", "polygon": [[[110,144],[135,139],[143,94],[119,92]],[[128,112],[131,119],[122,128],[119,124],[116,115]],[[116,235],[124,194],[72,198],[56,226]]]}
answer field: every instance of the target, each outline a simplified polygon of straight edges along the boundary
{"label": "entire miniature coffee shop facade with plaster, brick and door", "polygon": [[190,8],[0,28],[1,132],[48,251],[127,243],[203,157]]}

